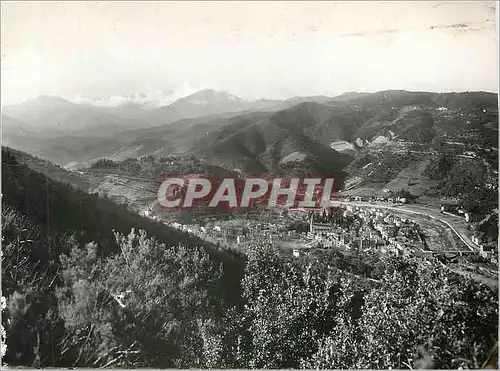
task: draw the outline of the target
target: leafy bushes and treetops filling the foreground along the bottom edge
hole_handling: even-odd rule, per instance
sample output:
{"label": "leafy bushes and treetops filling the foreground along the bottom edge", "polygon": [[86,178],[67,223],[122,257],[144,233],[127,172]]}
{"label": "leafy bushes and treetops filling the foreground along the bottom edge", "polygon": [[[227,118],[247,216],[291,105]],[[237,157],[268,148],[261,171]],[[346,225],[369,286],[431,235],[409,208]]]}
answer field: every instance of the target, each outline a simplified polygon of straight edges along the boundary
{"label": "leafy bushes and treetops filling the foreground along the bottom edge", "polygon": [[382,278],[368,281],[328,260],[257,247],[240,303],[228,305],[222,266],[201,248],[132,231],[117,233],[120,252],[101,258],[96,244],[68,238],[56,272],[50,263],[39,272],[19,238],[29,228],[16,229],[15,218],[4,215],[2,231],[8,363],[476,368],[495,342],[495,293],[437,264],[385,258]]}

